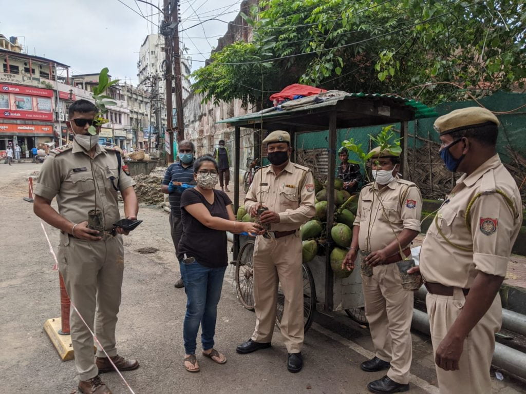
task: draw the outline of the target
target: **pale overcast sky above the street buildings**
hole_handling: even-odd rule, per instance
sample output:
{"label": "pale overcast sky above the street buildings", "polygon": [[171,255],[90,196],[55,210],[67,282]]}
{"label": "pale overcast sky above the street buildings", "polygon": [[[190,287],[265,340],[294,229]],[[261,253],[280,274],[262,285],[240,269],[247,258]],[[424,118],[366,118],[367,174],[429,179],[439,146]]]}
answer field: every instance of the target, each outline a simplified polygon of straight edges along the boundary
{"label": "pale overcast sky above the street buildings", "polygon": [[[108,67],[113,78],[137,84],[139,48],[152,29],[153,33],[158,32],[158,10],[135,0],[120,1],[124,4],[119,0],[3,2],[0,34],[7,38],[18,36],[22,45],[25,39],[29,54],[67,64],[70,74],[94,73]],[[162,8],[163,0],[148,1]],[[240,0],[181,0],[180,29],[198,24],[199,18],[217,17],[230,22],[239,12],[240,3]],[[148,23],[141,13],[156,14],[148,18],[155,25]],[[212,20],[180,34],[188,54],[195,60],[193,70],[203,66],[201,62],[209,57],[211,46],[217,45],[217,36],[224,35],[227,26]]]}

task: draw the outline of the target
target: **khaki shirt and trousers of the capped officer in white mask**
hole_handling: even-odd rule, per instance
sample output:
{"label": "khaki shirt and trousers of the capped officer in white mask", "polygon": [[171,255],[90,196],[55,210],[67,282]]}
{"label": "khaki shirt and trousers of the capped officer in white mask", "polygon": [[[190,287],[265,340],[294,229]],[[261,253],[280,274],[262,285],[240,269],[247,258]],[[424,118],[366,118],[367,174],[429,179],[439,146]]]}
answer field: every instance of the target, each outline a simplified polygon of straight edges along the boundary
{"label": "khaki shirt and trousers of the capped officer in white mask", "polygon": [[[404,229],[420,231],[421,211],[422,197],[413,182],[395,179],[382,190],[378,184],[366,185],[354,223],[360,226],[360,250],[381,250]],[[373,267],[372,276],[362,275],[362,288],[376,357],[391,363],[389,378],[406,385],[412,358],[413,293],[402,288],[395,263]]]}

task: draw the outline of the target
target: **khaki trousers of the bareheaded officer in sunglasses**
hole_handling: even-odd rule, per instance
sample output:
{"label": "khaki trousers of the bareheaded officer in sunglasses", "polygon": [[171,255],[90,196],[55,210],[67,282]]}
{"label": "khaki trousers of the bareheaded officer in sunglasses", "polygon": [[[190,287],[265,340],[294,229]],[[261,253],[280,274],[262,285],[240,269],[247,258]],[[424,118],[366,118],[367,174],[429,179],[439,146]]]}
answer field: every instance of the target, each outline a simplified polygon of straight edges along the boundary
{"label": "khaki trousers of the bareheaded officer in sunglasses", "polygon": [[[122,236],[83,241],[60,234],[58,263],[72,303],[108,355],[117,355],[115,326],[124,271]],[[91,379],[98,374],[93,357],[94,340],[73,305],[69,323],[79,379]],[[102,349],[97,349],[97,357],[106,357]]]}

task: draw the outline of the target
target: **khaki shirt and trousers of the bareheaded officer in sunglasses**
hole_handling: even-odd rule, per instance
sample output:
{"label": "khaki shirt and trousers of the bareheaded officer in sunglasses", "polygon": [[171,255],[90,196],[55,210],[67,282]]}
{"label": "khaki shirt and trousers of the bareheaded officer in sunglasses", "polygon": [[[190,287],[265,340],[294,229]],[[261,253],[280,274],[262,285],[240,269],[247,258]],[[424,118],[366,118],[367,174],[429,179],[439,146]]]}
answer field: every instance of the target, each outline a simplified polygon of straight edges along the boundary
{"label": "khaki shirt and trousers of the bareheaded officer in sunglasses", "polygon": [[[114,185],[123,191],[135,182],[122,169],[118,172],[116,152],[112,148],[97,145],[93,171],[97,183],[97,209],[103,212],[105,230],[109,231],[120,219]],[[35,194],[47,200],[56,196],[60,215],[73,223],[86,221],[95,203],[88,154],[76,142],[51,151],[35,185]],[[73,304],[90,329],[93,330],[96,321],[97,338],[108,355],[115,356],[115,325],[124,270],[122,237],[105,235],[101,241],[83,241],[60,234],[58,263]],[[79,379],[91,379],[98,374],[93,337],[73,307],[70,327]],[[106,357],[100,349],[97,356]]]}

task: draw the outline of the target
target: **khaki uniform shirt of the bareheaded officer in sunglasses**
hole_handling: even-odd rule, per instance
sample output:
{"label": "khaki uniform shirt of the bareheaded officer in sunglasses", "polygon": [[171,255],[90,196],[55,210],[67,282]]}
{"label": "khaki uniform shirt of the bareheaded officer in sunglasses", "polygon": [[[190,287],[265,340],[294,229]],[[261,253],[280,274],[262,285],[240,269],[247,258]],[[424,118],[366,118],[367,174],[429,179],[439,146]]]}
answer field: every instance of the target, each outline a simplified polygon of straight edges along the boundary
{"label": "khaki uniform shirt of the bareheaded officer in sunglasses", "polygon": [[[88,220],[88,211],[97,209],[103,212],[105,230],[112,230],[120,219],[117,191],[123,191],[135,184],[122,169],[118,173],[118,163],[113,148],[103,148],[97,144],[93,159],[93,172],[97,189],[93,183],[89,155],[76,141],[65,147],[52,150],[42,165],[35,185],[35,194],[46,200],[56,196],[58,213],[73,223]],[[110,179],[114,177],[114,180]],[[117,186],[118,184],[118,186]]]}

